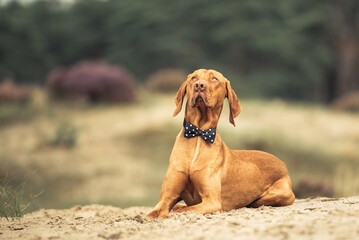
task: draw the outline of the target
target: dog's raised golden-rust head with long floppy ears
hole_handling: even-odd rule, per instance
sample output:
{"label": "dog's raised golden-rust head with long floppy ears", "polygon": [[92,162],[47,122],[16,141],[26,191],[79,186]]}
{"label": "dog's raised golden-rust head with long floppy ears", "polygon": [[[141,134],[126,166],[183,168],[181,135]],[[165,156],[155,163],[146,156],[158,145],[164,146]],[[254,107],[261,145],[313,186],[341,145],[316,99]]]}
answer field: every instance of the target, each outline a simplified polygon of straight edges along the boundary
{"label": "dog's raised golden-rust head with long floppy ears", "polygon": [[241,112],[240,103],[230,82],[221,73],[211,69],[198,69],[189,74],[176,94],[176,109],[173,116],[181,111],[186,95],[187,107],[220,110],[227,97],[230,108],[229,121],[235,126],[234,118]]}

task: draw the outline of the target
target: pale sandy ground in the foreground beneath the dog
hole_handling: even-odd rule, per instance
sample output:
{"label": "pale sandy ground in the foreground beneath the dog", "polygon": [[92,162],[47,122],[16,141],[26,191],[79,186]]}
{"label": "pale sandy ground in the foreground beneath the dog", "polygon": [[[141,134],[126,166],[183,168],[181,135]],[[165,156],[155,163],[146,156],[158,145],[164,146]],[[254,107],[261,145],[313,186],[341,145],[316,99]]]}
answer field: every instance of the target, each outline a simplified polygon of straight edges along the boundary
{"label": "pale sandy ground in the foreground beneath the dog", "polygon": [[0,219],[0,239],[359,239],[359,196],[148,219],[147,207],[75,206]]}

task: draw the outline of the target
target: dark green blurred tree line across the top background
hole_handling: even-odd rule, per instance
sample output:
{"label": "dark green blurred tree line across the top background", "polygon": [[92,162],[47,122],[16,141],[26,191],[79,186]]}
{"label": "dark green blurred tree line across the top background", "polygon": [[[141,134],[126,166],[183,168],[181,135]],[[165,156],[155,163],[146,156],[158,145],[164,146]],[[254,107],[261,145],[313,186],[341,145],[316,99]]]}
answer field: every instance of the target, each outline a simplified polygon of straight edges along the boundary
{"label": "dark green blurred tree line across the top background", "polygon": [[0,79],[40,83],[58,65],[106,59],[137,79],[214,68],[249,96],[313,99],[336,69],[334,8],[324,0],[11,2],[0,7]]}

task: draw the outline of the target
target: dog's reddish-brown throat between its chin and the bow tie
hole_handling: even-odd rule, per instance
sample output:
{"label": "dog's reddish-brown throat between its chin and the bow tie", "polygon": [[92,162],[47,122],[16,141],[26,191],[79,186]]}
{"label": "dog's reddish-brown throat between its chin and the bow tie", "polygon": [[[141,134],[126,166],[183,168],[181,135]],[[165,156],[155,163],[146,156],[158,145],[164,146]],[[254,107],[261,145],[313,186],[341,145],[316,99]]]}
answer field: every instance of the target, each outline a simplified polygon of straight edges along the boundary
{"label": "dog's reddish-brown throat between its chin and the bow tie", "polygon": [[222,105],[213,108],[201,106],[191,107],[186,104],[185,120],[200,129],[216,128],[222,112]]}

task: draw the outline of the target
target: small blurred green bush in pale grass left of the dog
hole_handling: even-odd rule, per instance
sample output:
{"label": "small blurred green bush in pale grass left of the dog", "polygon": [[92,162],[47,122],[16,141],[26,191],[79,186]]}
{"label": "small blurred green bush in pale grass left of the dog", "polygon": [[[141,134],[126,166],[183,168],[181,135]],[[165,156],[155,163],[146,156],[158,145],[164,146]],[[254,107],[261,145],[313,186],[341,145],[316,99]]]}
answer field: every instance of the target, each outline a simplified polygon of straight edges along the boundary
{"label": "small blurred green bush in pale grass left of the dog", "polygon": [[70,122],[62,122],[56,129],[55,135],[50,141],[54,147],[73,148],[77,142],[77,129]]}

